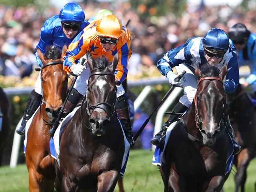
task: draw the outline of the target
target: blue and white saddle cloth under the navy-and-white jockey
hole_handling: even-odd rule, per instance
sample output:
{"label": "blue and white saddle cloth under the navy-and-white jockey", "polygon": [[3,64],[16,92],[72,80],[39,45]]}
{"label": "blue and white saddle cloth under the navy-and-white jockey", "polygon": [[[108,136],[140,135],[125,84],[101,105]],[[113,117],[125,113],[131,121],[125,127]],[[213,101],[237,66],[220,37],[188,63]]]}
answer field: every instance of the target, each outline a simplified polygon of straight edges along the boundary
{"label": "blue and white saddle cloth under the navy-and-white jockey", "polygon": [[[164,148],[163,148],[163,151],[161,151],[161,149],[156,146],[156,149],[155,149],[155,152],[154,152],[154,155],[153,155],[153,159],[152,159],[152,164],[153,165],[161,165],[165,164],[165,155],[166,155],[166,146],[167,146],[167,141],[169,140],[170,138],[170,135],[171,135],[171,132],[173,130],[173,128],[175,127],[177,122],[173,122],[167,129],[167,132],[166,132],[166,138],[165,138],[165,145],[164,145]],[[228,134],[228,132],[226,131],[226,133]],[[233,142],[232,142],[232,139],[230,137],[230,135],[228,134],[228,138],[229,138],[229,150],[228,150],[228,157],[227,157],[227,161],[226,161],[226,173],[225,174],[228,174],[228,172],[230,172],[230,170],[232,169],[232,165],[233,165],[233,159],[234,159],[234,155],[233,155],[233,151],[234,151],[234,146],[233,146]]]}

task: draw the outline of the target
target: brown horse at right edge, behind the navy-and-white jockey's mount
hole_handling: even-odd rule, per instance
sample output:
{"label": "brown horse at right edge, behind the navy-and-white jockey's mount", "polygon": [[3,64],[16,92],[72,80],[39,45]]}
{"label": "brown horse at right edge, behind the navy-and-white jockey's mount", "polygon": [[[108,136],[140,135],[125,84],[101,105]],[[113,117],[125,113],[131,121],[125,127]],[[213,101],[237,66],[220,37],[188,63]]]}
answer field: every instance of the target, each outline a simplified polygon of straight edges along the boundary
{"label": "brown horse at right edge, behind the navy-and-white jockey's mount", "polygon": [[234,165],[237,168],[235,175],[235,191],[245,191],[247,167],[256,155],[256,112],[250,101],[250,93],[245,92],[241,85],[237,86],[233,94],[227,95],[228,114],[230,122],[236,133],[236,140],[242,147],[240,153],[234,157]]}

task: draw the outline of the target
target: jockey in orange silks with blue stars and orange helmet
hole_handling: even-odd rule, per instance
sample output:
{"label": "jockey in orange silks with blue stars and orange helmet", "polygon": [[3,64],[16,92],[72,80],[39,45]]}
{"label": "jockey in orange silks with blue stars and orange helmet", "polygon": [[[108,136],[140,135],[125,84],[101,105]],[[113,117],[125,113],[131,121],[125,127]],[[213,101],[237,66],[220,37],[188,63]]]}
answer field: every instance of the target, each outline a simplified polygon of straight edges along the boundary
{"label": "jockey in orange silks with blue stars and orange helmet", "polygon": [[[119,115],[119,120],[122,123],[124,133],[130,146],[134,146],[132,136],[132,127],[129,118],[128,103],[124,97],[124,89],[122,82],[127,76],[127,64],[132,54],[130,32],[121,21],[114,15],[107,15],[100,20],[96,20],[89,24],[82,33],[80,33],[69,45],[64,56],[64,70],[74,75],[79,76],[74,84],[74,87],[69,95],[67,103],[63,109],[64,115],[73,111],[78,101],[86,94],[87,82],[89,79],[90,70],[78,63],[78,60],[83,57],[87,51],[90,52],[93,59],[104,55],[109,62],[118,53],[119,61],[115,70],[115,81],[117,85],[117,101],[115,109]],[[50,130],[51,133],[51,130]]]}

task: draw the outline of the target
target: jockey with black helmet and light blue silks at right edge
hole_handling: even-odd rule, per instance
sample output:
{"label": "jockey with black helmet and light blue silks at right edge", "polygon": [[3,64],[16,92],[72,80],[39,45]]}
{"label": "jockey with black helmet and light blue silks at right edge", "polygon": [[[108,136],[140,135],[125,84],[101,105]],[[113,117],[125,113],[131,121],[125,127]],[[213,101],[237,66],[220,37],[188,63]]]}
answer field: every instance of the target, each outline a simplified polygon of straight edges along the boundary
{"label": "jockey with black helmet and light blue silks at right edge", "polygon": [[236,48],[237,61],[239,64],[245,63],[250,66],[251,74],[243,83],[243,87],[250,85],[251,90],[256,94],[256,34],[247,30],[246,26],[237,23],[228,31],[228,37],[232,40]]}

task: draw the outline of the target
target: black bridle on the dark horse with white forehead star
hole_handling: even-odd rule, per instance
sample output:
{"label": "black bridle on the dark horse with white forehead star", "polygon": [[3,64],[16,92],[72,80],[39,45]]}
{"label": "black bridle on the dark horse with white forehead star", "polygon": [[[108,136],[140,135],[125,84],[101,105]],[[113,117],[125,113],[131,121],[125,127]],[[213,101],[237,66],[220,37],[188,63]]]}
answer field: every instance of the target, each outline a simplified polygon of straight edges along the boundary
{"label": "black bridle on the dark horse with white forehead star", "polygon": [[[114,73],[111,73],[111,72],[94,72],[94,73],[91,73],[90,76],[89,76],[89,79],[91,78],[91,76],[95,76],[95,75],[99,75],[99,76],[105,76],[105,75],[111,75],[111,76],[114,76],[115,77],[115,74]],[[88,80],[89,80],[88,79]],[[103,111],[105,111],[107,114],[108,114],[108,120],[110,121],[110,118],[111,116],[113,116],[113,112],[115,111],[115,100],[117,98],[117,87],[115,87],[115,97],[113,99],[113,103],[112,104],[109,104],[109,103],[106,103],[106,102],[100,102],[100,103],[96,103],[95,105],[91,105],[89,100],[88,100],[88,86],[87,86],[87,89],[86,89],[86,96],[83,98],[83,101],[82,101],[82,104],[81,104],[81,107],[80,107],[80,116],[81,116],[81,119],[82,119],[82,123],[83,125],[89,129],[89,130],[92,130],[91,126],[88,127],[87,125],[85,125],[85,123],[83,122],[83,103],[84,103],[84,100],[85,98],[87,97],[87,100],[86,100],[86,111],[87,111],[87,114],[89,116],[89,118],[91,118],[91,113],[96,109],[96,108],[99,108],[99,109],[102,109]],[[108,107],[111,107],[111,111],[109,112],[108,111]],[[90,112],[91,111],[91,112]]]}

